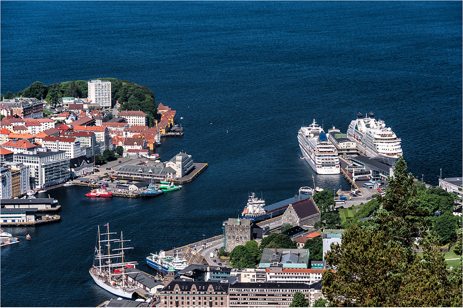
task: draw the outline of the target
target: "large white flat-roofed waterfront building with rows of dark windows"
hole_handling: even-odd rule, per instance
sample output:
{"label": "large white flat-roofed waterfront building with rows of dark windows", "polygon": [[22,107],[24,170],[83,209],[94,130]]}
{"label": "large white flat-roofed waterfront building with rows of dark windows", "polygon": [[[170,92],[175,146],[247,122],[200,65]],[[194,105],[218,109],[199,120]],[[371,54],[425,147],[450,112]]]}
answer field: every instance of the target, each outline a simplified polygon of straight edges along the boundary
{"label": "large white flat-roofed waterfront building with rows of dark windows", "polygon": [[29,166],[31,188],[49,187],[69,179],[69,158],[65,151],[51,151],[41,147],[13,157],[14,162]]}

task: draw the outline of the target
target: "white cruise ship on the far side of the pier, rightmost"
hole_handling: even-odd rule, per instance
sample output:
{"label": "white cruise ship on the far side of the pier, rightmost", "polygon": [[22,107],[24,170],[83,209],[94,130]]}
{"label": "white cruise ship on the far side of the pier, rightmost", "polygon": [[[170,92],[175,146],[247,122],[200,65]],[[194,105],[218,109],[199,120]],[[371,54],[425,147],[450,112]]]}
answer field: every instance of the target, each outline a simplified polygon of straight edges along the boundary
{"label": "white cruise ship on the far side of the pier, rightmost", "polygon": [[398,158],[402,156],[400,138],[397,138],[391,127],[384,121],[376,121],[373,112],[363,118],[358,113],[357,119],[350,122],[347,138],[355,141],[360,152],[371,158]]}

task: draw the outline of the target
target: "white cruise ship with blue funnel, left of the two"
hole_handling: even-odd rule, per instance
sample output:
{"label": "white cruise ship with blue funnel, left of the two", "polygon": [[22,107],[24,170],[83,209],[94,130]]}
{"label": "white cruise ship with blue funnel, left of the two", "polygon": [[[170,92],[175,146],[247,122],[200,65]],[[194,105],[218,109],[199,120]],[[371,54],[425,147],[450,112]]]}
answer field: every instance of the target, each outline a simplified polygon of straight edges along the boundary
{"label": "white cruise ship with blue funnel, left of the two", "polygon": [[315,172],[324,175],[341,172],[338,152],[315,120],[308,127],[300,128],[297,139],[302,155]]}

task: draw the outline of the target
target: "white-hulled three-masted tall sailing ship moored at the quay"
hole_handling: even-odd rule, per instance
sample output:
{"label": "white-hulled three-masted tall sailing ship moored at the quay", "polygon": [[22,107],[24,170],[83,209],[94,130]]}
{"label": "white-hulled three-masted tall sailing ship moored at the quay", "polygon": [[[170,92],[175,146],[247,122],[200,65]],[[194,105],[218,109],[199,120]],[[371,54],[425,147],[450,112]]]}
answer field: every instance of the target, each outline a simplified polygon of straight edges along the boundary
{"label": "white-hulled three-masted tall sailing ship moored at the quay", "polygon": [[[125,269],[127,267],[135,268],[138,263],[127,262],[124,251],[133,249],[133,247],[124,247],[124,242],[130,240],[123,239],[122,231],[120,232],[120,239],[111,239],[110,235],[117,233],[109,232],[109,223],[104,226],[107,227],[106,233],[100,233],[100,226],[98,226],[98,247],[95,247],[93,266],[88,272],[101,288],[117,296],[131,299],[138,287],[129,283]],[[119,243],[119,248],[111,249],[113,242]]]}

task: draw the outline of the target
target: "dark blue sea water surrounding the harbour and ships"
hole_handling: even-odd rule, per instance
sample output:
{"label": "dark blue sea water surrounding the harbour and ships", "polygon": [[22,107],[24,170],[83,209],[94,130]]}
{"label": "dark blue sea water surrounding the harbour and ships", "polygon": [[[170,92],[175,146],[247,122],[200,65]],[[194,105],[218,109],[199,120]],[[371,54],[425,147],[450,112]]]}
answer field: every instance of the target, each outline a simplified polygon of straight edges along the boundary
{"label": "dark blue sea water surrounding the harbour and ships", "polygon": [[462,175],[461,1],[1,1],[0,12],[1,93],[105,77],[148,86],[185,128],[156,151],[209,164],[150,200],[50,191],[60,223],[4,228],[21,242],[1,248],[2,307],[114,297],[88,274],[97,225],[123,230],[131,260],[153,273],[147,255],[220,234],[249,192],[271,204],[312,187],[312,175],[349,189],[299,159],[298,129],[313,118],[345,132],[373,111],[402,139],[413,175],[434,185],[440,168]]}

